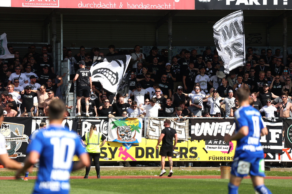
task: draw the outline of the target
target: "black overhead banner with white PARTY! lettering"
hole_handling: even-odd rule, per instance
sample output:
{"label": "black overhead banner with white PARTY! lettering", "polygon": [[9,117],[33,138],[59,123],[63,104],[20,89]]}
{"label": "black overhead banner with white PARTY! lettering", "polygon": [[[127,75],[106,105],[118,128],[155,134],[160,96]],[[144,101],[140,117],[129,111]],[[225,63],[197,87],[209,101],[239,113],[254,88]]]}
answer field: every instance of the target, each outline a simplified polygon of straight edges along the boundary
{"label": "black overhead banner with white PARTY! lettering", "polygon": [[291,9],[288,0],[195,0],[196,10],[284,10]]}

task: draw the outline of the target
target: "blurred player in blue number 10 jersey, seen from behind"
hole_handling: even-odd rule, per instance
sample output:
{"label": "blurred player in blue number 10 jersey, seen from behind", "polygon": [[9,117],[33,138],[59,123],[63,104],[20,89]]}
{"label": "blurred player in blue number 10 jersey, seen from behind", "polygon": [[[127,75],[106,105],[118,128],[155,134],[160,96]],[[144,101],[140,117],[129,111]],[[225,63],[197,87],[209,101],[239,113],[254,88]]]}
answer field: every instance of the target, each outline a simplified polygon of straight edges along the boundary
{"label": "blurred player in blue number 10 jersey, seen from behind", "polygon": [[[16,173],[18,178],[39,159],[39,172],[33,193],[69,193],[70,172],[91,164],[77,134],[62,127],[65,110],[61,100],[56,99],[50,103],[50,126],[39,131],[28,145],[24,167]],[[72,165],[74,154],[80,161]]]}

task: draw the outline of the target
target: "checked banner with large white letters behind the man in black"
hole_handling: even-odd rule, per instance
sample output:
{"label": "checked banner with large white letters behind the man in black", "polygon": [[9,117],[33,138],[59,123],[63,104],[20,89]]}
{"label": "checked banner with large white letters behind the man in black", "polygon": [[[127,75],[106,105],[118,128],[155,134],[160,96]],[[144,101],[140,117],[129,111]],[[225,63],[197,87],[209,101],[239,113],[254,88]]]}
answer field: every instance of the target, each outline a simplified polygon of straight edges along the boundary
{"label": "checked banner with large white letters behind the man in black", "polygon": [[[171,120],[170,127],[175,129],[177,132],[177,140],[188,141],[188,119],[185,121],[174,121]],[[162,129],[164,129],[163,118],[148,117],[147,119],[147,130],[146,137],[149,139],[158,139]]]}

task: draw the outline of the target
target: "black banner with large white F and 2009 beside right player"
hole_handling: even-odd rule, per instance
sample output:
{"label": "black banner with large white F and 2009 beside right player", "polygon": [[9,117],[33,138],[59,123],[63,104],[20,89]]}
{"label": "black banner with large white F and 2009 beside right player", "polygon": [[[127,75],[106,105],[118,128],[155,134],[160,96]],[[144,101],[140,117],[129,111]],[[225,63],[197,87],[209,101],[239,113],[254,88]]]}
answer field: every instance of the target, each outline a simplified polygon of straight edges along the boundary
{"label": "black banner with large white F and 2009 beside right player", "polygon": [[[265,121],[268,121],[265,119]],[[264,149],[264,153],[282,153],[282,130],[283,123],[265,122],[268,130],[266,136],[262,136],[260,143]]]}

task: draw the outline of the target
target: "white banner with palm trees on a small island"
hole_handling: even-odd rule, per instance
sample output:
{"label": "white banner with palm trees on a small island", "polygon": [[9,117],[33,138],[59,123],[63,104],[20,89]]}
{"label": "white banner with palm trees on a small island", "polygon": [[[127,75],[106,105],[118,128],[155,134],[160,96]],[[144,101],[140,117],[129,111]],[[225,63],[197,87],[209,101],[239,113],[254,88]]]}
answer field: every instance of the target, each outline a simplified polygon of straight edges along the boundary
{"label": "white banner with palm trees on a small island", "polygon": [[141,143],[142,118],[109,118],[108,141]]}

